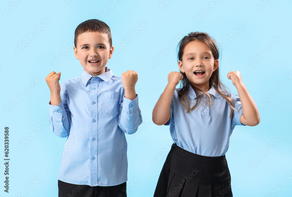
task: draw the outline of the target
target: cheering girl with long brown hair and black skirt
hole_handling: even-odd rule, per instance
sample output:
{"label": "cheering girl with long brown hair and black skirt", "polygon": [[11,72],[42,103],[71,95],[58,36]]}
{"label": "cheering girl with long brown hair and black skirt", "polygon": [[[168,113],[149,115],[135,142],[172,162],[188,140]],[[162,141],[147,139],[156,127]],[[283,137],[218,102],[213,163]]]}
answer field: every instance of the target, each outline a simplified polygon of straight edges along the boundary
{"label": "cheering girl with long brown hair and black skirt", "polygon": [[229,137],[235,125],[255,126],[260,116],[238,71],[227,78],[239,96],[224,90],[218,58],[206,33],[192,32],[179,43],[180,72],[168,74],[152,113],[155,124],[170,125],[174,141],[154,196],[232,196],[225,159]]}

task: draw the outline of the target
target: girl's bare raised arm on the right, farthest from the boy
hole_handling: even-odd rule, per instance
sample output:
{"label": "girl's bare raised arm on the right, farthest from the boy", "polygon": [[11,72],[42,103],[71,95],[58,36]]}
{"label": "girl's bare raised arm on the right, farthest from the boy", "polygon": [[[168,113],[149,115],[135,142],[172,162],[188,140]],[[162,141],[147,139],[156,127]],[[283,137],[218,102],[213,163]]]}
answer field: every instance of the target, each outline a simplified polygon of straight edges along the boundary
{"label": "girl's bare raised arm on the right, farthest from the boy", "polygon": [[242,115],[240,117],[240,122],[248,126],[258,125],[260,123],[258,108],[242,82],[240,72],[232,71],[227,74],[227,77],[231,79],[233,85],[235,85],[241,101]]}

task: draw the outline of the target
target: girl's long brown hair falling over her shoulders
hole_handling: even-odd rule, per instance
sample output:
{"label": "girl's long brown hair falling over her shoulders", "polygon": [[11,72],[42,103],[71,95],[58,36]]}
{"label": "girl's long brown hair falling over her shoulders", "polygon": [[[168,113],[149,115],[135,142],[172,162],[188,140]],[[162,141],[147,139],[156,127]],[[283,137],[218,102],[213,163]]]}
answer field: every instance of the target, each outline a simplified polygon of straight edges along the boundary
{"label": "girl's long brown hair falling over her shoulders", "polygon": [[[215,40],[211,36],[209,36],[205,32],[191,32],[187,36],[183,37],[183,39],[178,43],[178,46],[179,46],[178,60],[182,61],[185,45],[195,40],[205,43],[211,49],[214,59],[215,60],[219,59],[218,47],[215,43]],[[188,80],[187,75],[185,73],[183,73],[182,71],[180,71],[180,73],[183,75],[183,79],[180,82],[181,89],[178,91],[178,95],[179,95],[180,103],[186,108],[186,112],[189,113],[190,111],[194,110],[199,105],[199,103],[201,103],[202,95],[199,93],[199,91],[201,92],[203,91],[201,89],[194,87],[194,85],[192,85],[190,81]],[[226,87],[220,81],[219,67],[211,75],[211,78],[209,80],[209,87],[212,87],[212,84],[214,85],[215,91],[220,96],[222,96],[226,100],[228,105],[230,106],[231,108],[230,117],[231,117],[232,111],[236,109],[233,107],[233,101],[230,99],[230,96],[223,94],[223,92],[225,92],[224,90],[226,89]],[[196,104],[192,108],[190,108],[190,101],[189,99],[187,99],[187,96],[186,96],[190,86],[194,89],[194,92],[197,95]],[[208,99],[209,99],[209,105],[211,105],[211,96],[208,93],[206,93],[206,95],[208,96]],[[187,101],[187,105],[185,101],[183,100],[183,98],[185,98],[185,100]]]}

